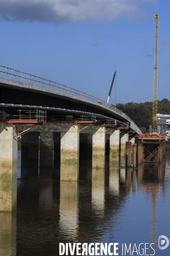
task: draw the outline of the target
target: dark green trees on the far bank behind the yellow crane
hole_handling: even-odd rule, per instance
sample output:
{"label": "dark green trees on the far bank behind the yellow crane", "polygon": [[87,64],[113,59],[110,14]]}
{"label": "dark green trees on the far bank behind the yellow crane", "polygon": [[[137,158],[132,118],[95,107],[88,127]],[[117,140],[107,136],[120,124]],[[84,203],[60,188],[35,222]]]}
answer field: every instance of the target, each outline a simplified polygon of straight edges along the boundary
{"label": "dark green trees on the far bank behind the yellow crane", "polygon": [[[147,131],[147,125],[152,124],[153,102],[145,103],[128,102],[125,104],[117,104],[117,109],[122,109],[144,133]],[[163,99],[158,100],[158,113],[170,115],[170,101]]]}

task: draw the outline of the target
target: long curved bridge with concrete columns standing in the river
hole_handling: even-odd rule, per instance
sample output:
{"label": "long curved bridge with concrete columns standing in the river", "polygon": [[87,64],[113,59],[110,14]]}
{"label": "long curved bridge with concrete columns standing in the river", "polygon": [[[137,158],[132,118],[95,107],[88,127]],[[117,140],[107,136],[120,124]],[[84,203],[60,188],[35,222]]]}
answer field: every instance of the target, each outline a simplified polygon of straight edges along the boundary
{"label": "long curved bridge with concrete columns standing in the river", "polygon": [[[16,209],[20,136],[21,154],[34,166],[40,161],[40,175],[75,181],[79,175],[80,141],[88,144],[92,168],[104,168],[106,144],[109,161],[118,161],[126,156],[126,142],[133,147],[139,133],[125,113],[103,100],[1,65],[0,211]],[[53,168],[53,150],[59,166],[56,174],[49,171]]]}

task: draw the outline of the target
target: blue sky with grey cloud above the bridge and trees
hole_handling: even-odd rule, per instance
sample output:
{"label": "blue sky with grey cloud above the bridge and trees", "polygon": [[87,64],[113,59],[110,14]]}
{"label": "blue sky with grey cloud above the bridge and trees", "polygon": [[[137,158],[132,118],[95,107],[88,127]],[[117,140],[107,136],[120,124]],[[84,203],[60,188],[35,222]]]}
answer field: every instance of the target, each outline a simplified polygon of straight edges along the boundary
{"label": "blue sky with grey cloud above the bridge and trees", "polygon": [[158,100],[170,100],[169,0],[0,0],[0,65],[107,100],[153,100],[154,13],[159,13]]}

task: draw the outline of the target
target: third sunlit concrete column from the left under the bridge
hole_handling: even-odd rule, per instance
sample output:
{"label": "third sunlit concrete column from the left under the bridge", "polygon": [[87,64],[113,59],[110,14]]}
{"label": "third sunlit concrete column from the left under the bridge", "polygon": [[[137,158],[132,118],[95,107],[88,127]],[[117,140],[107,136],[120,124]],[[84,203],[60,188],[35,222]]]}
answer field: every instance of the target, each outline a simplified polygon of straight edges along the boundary
{"label": "third sunlit concrete column from the left under the bridge", "polygon": [[92,168],[105,166],[105,128],[94,127],[92,133]]}

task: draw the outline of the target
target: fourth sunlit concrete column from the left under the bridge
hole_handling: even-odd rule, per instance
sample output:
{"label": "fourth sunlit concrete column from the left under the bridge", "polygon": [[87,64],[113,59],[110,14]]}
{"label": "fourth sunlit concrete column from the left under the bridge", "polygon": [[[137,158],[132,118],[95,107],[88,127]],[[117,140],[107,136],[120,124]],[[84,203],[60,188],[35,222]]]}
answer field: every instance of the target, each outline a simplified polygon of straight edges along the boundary
{"label": "fourth sunlit concrete column from the left under the bridge", "polygon": [[120,130],[110,129],[110,158],[109,161],[119,161]]}

